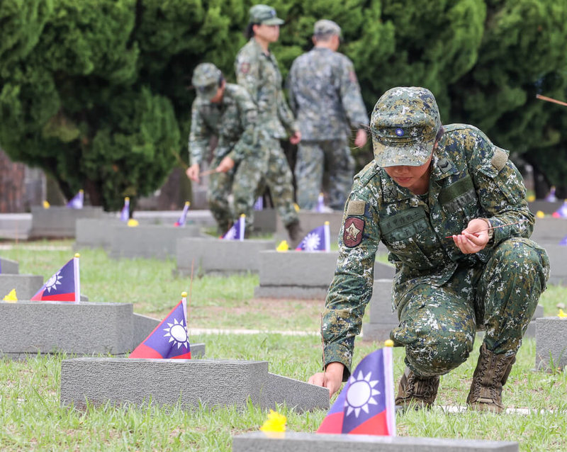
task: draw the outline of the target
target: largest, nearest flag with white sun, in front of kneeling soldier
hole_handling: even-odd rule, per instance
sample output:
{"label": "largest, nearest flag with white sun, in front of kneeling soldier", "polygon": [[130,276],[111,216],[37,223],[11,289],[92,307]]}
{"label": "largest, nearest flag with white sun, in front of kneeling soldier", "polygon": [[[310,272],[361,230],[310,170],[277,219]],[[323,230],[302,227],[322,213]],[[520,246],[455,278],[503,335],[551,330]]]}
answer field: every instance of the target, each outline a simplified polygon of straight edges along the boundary
{"label": "largest, nearest flag with white sun, in front of kneeling soldier", "polygon": [[395,436],[392,347],[366,355],[317,433]]}

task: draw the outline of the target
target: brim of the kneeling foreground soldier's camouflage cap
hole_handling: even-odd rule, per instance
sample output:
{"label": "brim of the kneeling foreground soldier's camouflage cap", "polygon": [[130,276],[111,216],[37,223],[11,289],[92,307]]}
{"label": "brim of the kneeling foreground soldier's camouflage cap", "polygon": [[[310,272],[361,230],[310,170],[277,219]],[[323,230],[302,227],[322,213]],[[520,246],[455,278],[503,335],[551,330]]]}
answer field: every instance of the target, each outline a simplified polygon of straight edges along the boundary
{"label": "brim of the kneeling foreground soldier's camouflage cap", "polygon": [[374,160],[378,166],[421,166],[427,162],[433,152],[435,139],[427,142],[412,142],[401,146],[388,146],[372,139]]}

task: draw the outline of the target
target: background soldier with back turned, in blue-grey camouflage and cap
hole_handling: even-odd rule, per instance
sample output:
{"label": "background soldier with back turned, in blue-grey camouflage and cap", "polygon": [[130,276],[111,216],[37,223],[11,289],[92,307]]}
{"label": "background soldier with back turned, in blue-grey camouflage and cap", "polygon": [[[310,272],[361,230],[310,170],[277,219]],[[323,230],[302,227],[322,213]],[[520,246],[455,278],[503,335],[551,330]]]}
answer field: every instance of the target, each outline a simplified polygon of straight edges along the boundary
{"label": "background soldier with back turned, in blue-grey camouflage and cap", "polygon": [[333,21],[315,23],[310,52],[297,57],[287,79],[289,101],[301,130],[296,162],[297,201],[313,209],[329,171],[329,205],[342,210],[352,186],[354,159],[349,149],[366,144],[368,114],[352,61],[337,52],[341,28]]}

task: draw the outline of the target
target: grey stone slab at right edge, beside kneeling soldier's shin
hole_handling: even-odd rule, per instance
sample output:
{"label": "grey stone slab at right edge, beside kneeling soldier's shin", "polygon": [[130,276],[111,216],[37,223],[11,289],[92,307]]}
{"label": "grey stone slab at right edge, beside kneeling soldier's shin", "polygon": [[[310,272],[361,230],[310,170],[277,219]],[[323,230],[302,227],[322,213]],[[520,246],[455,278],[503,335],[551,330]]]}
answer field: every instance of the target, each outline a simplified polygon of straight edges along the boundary
{"label": "grey stone slab at right edge, beside kneeling soldier's shin", "polygon": [[536,369],[567,366],[567,319],[540,317],[536,320]]}

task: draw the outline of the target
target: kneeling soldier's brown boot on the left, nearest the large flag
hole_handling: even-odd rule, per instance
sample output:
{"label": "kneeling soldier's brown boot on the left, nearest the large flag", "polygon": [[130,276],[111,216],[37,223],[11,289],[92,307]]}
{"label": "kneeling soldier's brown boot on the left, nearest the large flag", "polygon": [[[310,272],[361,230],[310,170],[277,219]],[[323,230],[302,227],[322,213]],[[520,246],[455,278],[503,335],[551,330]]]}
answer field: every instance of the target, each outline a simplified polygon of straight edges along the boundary
{"label": "kneeling soldier's brown boot on the left, nearest the large flag", "polygon": [[403,409],[431,408],[437,397],[437,389],[439,389],[439,376],[419,377],[406,367],[398,386],[395,405]]}

